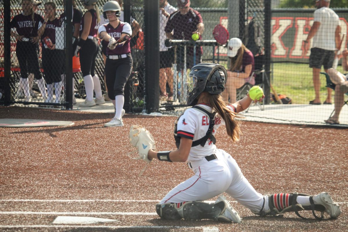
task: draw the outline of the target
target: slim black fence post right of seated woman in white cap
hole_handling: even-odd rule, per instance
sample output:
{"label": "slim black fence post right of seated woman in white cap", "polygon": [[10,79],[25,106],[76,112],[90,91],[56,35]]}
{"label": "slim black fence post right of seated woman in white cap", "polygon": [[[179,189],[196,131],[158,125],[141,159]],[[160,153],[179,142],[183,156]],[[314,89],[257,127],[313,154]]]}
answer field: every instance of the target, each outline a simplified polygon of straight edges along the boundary
{"label": "slim black fence post right of seated woman in white cap", "polygon": [[264,0],[264,67],[265,67],[265,78],[264,81],[264,96],[265,104],[270,103],[270,64],[271,64],[271,0]]}

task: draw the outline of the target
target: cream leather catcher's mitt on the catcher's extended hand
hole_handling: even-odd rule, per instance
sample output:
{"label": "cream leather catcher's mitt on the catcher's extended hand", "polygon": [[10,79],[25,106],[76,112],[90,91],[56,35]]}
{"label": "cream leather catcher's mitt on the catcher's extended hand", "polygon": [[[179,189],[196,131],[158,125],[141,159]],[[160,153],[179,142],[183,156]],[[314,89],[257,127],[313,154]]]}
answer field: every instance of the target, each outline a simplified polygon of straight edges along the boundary
{"label": "cream leather catcher's mitt on the catcher's extended hand", "polygon": [[150,149],[156,150],[156,146],[155,140],[147,129],[139,125],[131,126],[129,130],[129,142],[138,149],[139,157],[134,159],[142,159],[148,163],[152,161],[152,159],[148,159],[148,153]]}

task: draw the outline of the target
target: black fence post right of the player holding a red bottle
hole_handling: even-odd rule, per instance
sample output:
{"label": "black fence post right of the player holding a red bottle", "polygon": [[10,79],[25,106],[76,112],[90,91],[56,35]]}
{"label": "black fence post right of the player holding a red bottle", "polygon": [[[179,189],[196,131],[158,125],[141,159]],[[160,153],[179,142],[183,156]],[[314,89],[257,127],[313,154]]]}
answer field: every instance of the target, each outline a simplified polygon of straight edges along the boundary
{"label": "black fence post right of the player holding a red bottle", "polygon": [[72,109],[72,0],[65,1],[65,108]]}

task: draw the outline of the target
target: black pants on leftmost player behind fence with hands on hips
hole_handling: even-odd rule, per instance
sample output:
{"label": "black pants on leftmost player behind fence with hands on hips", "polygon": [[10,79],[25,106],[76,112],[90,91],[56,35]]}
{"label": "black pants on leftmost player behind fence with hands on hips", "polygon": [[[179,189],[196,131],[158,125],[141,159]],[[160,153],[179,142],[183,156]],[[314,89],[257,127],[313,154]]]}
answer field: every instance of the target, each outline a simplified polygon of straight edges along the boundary
{"label": "black pants on leftmost player behind fence with hands on hips", "polygon": [[30,73],[34,73],[35,79],[39,80],[42,78],[37,44],[30,41],[17,41],[16,55],[22,78],[28,78],[29,71]]}

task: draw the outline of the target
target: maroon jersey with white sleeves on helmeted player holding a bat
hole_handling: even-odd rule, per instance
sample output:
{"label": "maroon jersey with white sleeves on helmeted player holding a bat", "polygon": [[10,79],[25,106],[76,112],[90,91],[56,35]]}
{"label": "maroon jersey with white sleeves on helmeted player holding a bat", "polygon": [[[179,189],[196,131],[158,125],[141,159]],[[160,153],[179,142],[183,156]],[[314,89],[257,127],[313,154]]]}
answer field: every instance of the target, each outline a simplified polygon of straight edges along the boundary
{"label": "maroon jersey with white sleeves on helmeted player holding a bat", "polygon": [[[113,28],[109,23],[103,24],[103,26],[106,29],[106,33],[108,33],[111,37],[115,38],[115,40],[117,41],[119,38],[121,38],[121,33],[129,34],[125,28],[126,24],[129,26],[128,23],[121,22],[121,21],[116,28]],[[130,35],[131,34],[129,34],[129,36]],[[122,55],[122,54],[130,53],[130,43],[129,42],[130,42],[130,38],[125,42],[125,44],[122,47],[118,47],[118,48],[115,48],[112,50],[110,50],[108,47],[106,47],[106,55]],[[108,44],[109,43],[106,42],[104,45],[108,46]]]}

